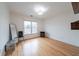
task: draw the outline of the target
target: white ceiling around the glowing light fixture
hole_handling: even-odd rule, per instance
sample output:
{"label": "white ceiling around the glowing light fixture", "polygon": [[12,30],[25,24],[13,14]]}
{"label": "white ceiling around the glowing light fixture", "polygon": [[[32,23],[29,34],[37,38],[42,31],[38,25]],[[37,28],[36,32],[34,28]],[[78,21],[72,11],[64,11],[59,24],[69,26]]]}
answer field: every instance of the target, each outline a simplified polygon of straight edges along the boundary
{"label": "white ceiling around the glowing light fixture", "polygon": [[[39,19],[46,19],[49,17],[54,17],[59,15],[59,13],[63,13],[68,11],[69,9],[69,2],[9,2],[11,12],[17,12],[26,16],[33,15],[35,18]],[[38,15],[34,11],[34,6],[41,5],[48,10],[43,15]]]}

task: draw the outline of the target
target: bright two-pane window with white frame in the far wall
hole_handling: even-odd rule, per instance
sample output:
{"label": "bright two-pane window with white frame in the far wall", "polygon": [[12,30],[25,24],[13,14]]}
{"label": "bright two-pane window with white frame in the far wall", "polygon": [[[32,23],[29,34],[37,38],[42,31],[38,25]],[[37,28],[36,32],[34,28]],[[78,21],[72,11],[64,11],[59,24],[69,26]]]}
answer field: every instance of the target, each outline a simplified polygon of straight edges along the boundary
{"label": "bright two-pane window with white frame in the far wall", "polygon": [[37,22],[24,21],[24,34],[37,33]]}

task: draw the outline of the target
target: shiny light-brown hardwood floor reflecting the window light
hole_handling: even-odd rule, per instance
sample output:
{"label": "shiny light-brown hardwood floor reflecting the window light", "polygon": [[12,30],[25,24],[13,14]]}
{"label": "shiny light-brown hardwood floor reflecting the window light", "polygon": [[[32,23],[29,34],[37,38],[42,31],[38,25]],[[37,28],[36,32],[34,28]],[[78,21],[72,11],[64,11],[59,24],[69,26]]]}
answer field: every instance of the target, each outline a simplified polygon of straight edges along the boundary
{"label": "shiny light-brown hardwood floor reflecting the window light", "polygon": [[[10,52],[10,51],[8,51]],[[17,44],[8,56],[79,56],[79,47],[48,38],[35,38]]]}

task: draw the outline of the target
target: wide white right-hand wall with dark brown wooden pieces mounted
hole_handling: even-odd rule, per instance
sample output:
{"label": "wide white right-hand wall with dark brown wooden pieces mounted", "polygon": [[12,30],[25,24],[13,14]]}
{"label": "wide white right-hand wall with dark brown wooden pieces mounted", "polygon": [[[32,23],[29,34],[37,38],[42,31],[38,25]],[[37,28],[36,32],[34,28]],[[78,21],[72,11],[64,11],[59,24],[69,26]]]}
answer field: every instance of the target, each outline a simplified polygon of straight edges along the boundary
{"label": "wide white right-hand wall with dark brown wooden pieces mounted", "polygon": [[79,15],[73,13],[71,3],[62,8],[65,10],[45,20],[45,31],[50,38],[79,47],[79,30],[71,30],[70,26],[71,22],[79,20]]}

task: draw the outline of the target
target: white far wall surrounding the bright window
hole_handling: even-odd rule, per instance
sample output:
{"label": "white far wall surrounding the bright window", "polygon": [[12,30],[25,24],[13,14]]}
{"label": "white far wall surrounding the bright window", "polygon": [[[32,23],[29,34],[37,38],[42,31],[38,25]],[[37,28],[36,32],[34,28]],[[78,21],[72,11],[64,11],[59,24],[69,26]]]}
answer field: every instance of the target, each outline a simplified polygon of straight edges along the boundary
{"label": "white far wall surrounding the bright window", "polygon": [[41,20],[28,18],[27,16],[24,16],[22,14],[18,14],[18,13],[15,13],[15,12],[11,12],[10,16],[11,16],[10,23],[15,24],[17,26],[17,30],[18,31],[23,31],[24,30],[24,21],[25,20],[35,21],[35,22],[38,23],[38,33],[37,34],[31,34],[31,35],[24,35],[25,39],[38,37],[39,36],[39,32],[43,30],[43,26],[42,26]]}

